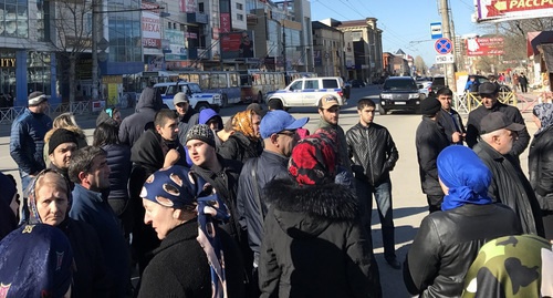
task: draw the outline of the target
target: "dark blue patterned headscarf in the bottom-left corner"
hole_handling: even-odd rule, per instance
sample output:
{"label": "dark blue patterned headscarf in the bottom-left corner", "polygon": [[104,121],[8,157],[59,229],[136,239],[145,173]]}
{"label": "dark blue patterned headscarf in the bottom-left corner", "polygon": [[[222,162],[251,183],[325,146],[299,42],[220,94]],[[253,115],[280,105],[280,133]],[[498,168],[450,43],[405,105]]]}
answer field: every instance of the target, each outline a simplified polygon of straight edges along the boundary
{"label": "dark blue patterned headscarf in the bottom-left corner", "polygon": [[71,297],[73,250],[58,228],[23,225],[0,242],[0,297]]}

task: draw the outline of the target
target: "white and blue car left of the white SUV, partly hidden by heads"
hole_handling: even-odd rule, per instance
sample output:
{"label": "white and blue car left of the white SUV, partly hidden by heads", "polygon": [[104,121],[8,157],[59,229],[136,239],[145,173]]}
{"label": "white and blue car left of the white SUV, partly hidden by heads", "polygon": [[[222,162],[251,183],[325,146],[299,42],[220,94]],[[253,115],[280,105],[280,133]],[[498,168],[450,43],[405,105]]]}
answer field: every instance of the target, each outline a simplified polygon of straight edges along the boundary
{"label": "white and blue car left of the white SUV, partly hidden by heads", "polygon": [[166,104],[170,110],[175,110],[173,97],[178,92],[185,92],[188,95],[190,106],[196,111],[211,107],[219,112],[222,107],[222,95],[220,93],[205,93],[197,83],[185,81],[157,83],[154,85],[154,89],[161,93],[164,104]]}

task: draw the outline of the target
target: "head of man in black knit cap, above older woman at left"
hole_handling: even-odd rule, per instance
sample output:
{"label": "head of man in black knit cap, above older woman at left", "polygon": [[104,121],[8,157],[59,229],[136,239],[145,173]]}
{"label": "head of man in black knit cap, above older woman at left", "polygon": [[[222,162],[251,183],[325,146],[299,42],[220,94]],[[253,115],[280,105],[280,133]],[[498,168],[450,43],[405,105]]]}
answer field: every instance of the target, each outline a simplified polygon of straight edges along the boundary
{"label": "head of man in black knit cap, above older woman at left", "polygon": [[48,142],[48,157],[51,162],[50,168],[62,174],[67,182],[70,181],[67,169],[71,162],[71,155],[77,150],[77,144],[79,141],[75,133],[65,129],[55,130]]}

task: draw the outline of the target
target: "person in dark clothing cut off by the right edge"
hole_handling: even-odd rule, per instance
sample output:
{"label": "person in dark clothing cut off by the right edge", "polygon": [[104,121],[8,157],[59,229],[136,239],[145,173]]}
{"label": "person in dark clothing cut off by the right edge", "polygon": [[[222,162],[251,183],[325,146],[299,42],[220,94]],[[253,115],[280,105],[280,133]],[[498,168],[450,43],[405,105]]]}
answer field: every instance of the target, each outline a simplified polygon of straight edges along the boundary
{"label": "person in dark clothing cut off by the right edge", "polygon": [[532,112],[538,131],[528,155],[530,184],[542,208],[545,238],[553,240],[553,103],[538,104]]}

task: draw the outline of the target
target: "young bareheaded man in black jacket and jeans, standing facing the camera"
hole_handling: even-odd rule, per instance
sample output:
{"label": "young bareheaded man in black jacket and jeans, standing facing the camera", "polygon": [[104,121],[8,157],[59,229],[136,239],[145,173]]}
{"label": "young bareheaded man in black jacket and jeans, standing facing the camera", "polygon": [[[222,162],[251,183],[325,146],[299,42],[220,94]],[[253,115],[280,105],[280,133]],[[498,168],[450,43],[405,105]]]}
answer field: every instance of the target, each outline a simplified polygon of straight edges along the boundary
{"label": "young bareheaded man in black jacket and jeans, standing facing the camera", "polygon": [[392,182],[389,171],[399,158],[396,144],[388,130],[373,122],[375,103],[362,99],[357,103],[359,123],[346,133],[347,152],[353,158],[357,198],[362,206],[364,226],[371,235],[371,213],[373,194],[382,224],[384,257],[395,269],[401,268],[396,259],[394,237],[394,214],[392,206]]}

